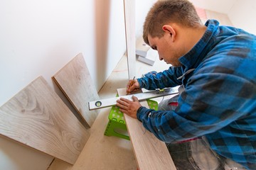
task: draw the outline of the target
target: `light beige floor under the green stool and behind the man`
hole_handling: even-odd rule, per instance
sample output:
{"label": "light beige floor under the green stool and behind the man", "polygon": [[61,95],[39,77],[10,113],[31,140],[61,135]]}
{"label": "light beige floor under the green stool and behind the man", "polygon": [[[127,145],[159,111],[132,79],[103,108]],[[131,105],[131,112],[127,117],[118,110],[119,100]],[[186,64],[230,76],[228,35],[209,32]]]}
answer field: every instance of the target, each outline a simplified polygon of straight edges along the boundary
{"label": "light beige floor under the green stool and behind the man", "polygon": [[[228,19],[222,13],[215,13],[213,11],[204,11],[198,9],[201,12],[202,22],[208,18],[215,18],[220,21],[221,25],[232,26]],[[137,77],[141,77],[142,74],[155,70],[161,72],[167,69],[169,65],[165,62],[161,62],[156,59],[154,66],[144,64],[137,61]],[[123,88],[127,85],[127,57],[122,57],[117,67],[113,70],[109,79],[99,91],[100,98],[110,98],[117,94],[117,89]],[[137,162],[132,151],[132,144],[129,140],[120,139],[118,137],[107,137],[104,135],[105,128],[108,123],[108,114],[110,108],[100,109],[100,113],[92,125],[91,136],[83,148],[80,157],[74,165],[70,165],[58,159],[53,161],[48,170],[82,170],[82,169],[137,169]]]}

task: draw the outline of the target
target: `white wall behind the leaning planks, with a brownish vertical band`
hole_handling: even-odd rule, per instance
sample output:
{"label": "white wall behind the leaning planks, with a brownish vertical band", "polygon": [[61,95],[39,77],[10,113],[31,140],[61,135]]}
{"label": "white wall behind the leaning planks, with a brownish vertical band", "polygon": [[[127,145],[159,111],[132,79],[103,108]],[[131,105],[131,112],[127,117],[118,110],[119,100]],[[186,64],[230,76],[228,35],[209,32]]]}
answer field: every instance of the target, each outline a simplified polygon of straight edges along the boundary
{"label": "white wall behind the leaning planks, with a brownish vertical band", "polygon": [[[154,1],[136,1],[137,36]],[[79,52],[100,90],[126,50],[123,9],[122,0],[1,0],[0,106],[39,75],[68,104],[51,77]],[[0,169],[43,170],[52,159],[0,137]]]}

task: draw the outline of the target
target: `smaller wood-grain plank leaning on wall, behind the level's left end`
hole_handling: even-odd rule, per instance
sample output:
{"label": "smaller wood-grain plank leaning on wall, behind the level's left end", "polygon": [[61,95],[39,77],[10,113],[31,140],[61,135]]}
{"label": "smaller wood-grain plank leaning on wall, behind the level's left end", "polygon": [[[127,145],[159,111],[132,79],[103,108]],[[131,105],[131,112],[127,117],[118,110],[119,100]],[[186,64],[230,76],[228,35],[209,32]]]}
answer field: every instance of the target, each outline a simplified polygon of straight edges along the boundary
{"label": "smaller wood-grain plank leaning on wall, behind the level's left end", "polygon": [[99,100],[99,96],[82,54],[68,62],[53,76],[53,79],[76,111],[80,113],[82,120],[91,127],[98,113],[89,111],[88,102]]}

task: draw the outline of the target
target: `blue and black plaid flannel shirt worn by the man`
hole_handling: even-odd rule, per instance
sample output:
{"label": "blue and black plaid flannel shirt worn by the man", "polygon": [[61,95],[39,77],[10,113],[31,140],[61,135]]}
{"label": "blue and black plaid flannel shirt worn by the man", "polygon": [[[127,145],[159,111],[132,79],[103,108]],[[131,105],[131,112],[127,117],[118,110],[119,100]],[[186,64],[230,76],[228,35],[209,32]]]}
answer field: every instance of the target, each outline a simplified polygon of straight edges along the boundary
{"label": "blue and black plaid flannel shirt worn by the man", "polygon": [[[206,26],[201,40],[179,59],[182,67],[138,79],[149,90],[183,84],[178,108],[141,107],[137,118],[159,140],[176,142],[204,135],[218,154],[256,169],[256,36],[219,26],[215,20]],[[183,75],[189,69],[194,70]]]}

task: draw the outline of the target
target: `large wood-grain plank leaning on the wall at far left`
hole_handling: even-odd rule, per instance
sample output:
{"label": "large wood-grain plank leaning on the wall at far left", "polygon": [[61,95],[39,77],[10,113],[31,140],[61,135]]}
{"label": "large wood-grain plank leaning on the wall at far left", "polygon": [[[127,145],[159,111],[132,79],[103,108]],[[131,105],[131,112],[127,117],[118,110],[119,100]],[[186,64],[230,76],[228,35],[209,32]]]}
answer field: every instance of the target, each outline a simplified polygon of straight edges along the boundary
{"label": "large wood-grain plank leaning on the wall at far left", "polygon": [[0,135],[70,164],[90,137],[43,77],[1,106]]}

